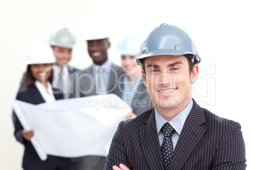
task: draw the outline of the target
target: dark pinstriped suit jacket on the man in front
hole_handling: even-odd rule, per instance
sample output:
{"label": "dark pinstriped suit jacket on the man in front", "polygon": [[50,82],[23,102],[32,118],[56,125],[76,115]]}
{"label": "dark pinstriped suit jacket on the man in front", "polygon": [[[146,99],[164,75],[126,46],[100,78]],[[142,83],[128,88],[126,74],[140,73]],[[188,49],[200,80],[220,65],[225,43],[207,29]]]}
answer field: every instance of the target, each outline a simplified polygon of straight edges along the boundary
{"label": "dark pinstriped suit jacket on the man in front", "polygon": [[[183,126],[169,170],[245,169],[245,143],[238,122],[194,105]],[[163,170],[154,109],[120,122],[104,170],[125,164],[133,170]]]}

